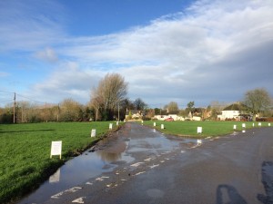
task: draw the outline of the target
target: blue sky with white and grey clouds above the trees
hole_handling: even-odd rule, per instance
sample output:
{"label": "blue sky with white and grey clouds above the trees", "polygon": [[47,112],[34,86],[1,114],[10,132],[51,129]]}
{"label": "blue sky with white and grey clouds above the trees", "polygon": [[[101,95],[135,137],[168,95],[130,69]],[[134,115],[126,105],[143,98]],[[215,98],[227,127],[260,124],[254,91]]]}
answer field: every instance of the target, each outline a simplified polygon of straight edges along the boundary
{"label": "blue sky with white and grey clouds above the trees", "polygon": [[271,0],[0,0],[0,107],[86,104],[106,73],[149,107],[273,95]]}

